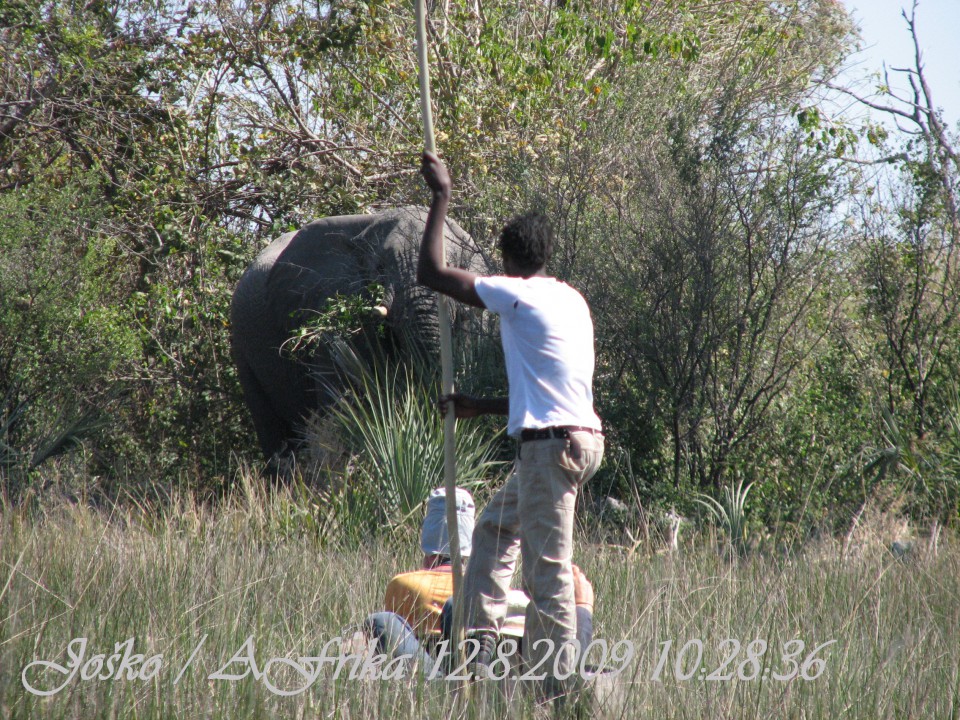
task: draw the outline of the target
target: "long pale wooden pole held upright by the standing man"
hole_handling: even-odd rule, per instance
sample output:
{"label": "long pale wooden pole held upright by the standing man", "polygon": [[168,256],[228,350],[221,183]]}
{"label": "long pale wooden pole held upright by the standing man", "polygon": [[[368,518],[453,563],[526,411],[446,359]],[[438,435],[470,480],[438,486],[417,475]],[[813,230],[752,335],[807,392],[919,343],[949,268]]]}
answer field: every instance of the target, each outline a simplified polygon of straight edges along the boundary
{"label": "long pale wooden pole held upright by the standing man", "polygon": [[[436,152],[433,135],[433,112],[430,107],[430,66],[427,62],[427,12],[424,0],[414,0],[417,14],[417,64],[420,75],[420,112],[423,116],[423,145]],[[446,233],[443,241],[443,259],[447,261]],[[440,370],[441,392],[453,392],[453,340],[450,333],[450,301],[445,295],[437,295],[440,315]],[[454,667],[460,664],[460,646],[463,638],[463,570],[460,561],[460,533],[457,523],[457,452],[456,411],[452,403],[447,405],[443,419],[443,484],[446,489],[447,536],[450,538],[450,560],[453,565],[453,647]]]}

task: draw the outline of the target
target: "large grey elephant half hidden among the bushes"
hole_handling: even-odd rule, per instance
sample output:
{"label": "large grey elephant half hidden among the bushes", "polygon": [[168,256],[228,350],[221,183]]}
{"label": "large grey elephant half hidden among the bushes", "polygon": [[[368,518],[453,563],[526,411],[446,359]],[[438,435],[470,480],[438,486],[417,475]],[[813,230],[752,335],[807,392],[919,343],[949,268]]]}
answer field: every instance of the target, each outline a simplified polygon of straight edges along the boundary
{"label": "large grey elephant half hidden among the bushes", "polygon": [[[241,276],[230,307],[232,352],[268,463],[297,447],[309,413],[342,395],[344,380],[329,345],[319,344],[306,362],[284,350],[330,298],[362,296],[378,283],[389,349],[409,355],[413,345],[439,347],[436,293],[416,281],[426,215],[414,206],[315,220],[274,240]],[[487,271],[480,248],[456,222],[447,220],[445,235],[448,263]]]}

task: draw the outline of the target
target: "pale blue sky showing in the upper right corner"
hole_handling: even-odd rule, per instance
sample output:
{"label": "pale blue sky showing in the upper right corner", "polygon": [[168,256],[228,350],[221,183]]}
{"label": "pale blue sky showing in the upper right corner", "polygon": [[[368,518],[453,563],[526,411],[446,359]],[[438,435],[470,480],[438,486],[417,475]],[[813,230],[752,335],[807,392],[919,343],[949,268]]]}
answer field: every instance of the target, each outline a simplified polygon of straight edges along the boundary
{"label": "pale blue sky showing in the upper right corner", "polygon": [[[849,61],[845,78],[862,79],[887,67],[912,67],[913,44],[907,23],[901,16],[909,14],[912,0],[843,0],[860,26],[863,50]],[[957,129],[960,123],[960,0],[919,0],[917,35],[923,54],[924,73],[934,103],[944,111],[947,124]],[[907,96],[905,78],[891,73],[891,85]],[[872,92],[875,81],[864,84]]]}

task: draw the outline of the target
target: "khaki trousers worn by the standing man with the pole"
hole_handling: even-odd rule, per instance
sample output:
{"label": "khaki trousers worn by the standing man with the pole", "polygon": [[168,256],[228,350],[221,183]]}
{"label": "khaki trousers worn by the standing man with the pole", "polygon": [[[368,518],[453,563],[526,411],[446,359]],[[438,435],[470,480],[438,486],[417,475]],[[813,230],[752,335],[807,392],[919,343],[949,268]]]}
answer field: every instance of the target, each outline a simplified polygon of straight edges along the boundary
{"label": "khaki trousers worn by the standing man with the pole", "polygon": [[530,596],[524,664],[529,670],[541,663],[532,674],[548,678],[574,670],[574,509],[580,486],[603,459],[602,435],[576,432],[573,440],[580,445],[579,458],[572,457],[570,440],[520,445],[513,472],[477,520],[464,578],[466,626],[499,632],[519,553],[523,587]]}

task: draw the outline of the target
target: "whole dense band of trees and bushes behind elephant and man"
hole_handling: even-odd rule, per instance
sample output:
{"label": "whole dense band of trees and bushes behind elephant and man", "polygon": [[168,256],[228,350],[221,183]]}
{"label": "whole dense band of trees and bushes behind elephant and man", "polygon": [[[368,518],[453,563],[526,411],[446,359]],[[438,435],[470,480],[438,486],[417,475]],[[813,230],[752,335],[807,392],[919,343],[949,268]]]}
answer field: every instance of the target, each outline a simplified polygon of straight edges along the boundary
{"label": "whole dense band of trees and bushes behind elephant and man", "polygon": [[[2,21],[4,495],[220,493],[255,461],[227,327],[246,264],[424,202],[410,8]],[[914,97],[854,106],[873,121],[832,112],[856,36],[829,1],[441,3],[430,35],[456,217],[490,246],[548,211],[593,308],[599,494],[690,511],[746,480],[765,524],[878,493],[956,522],[957,154],[920,67]]]}

